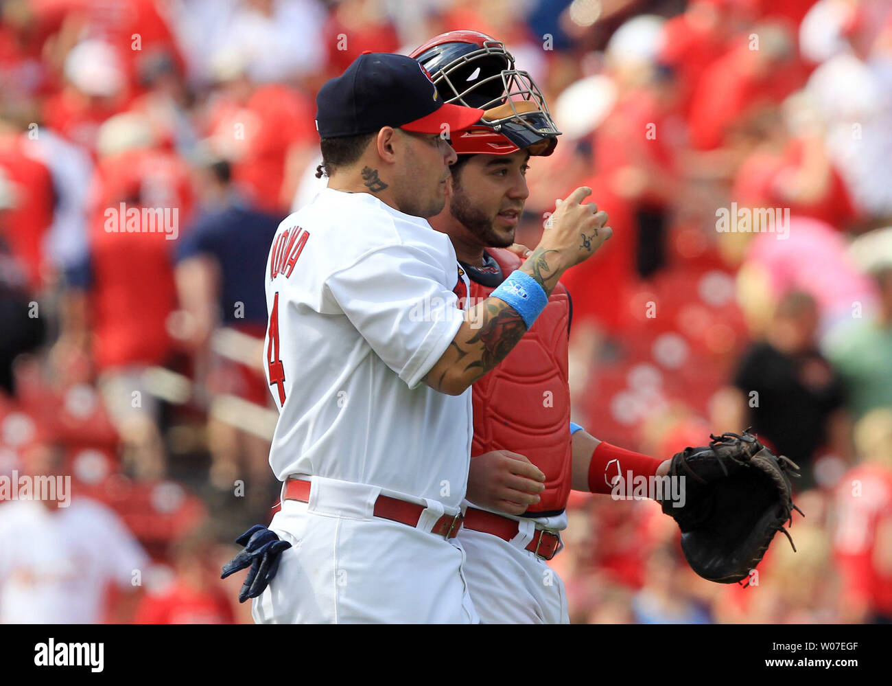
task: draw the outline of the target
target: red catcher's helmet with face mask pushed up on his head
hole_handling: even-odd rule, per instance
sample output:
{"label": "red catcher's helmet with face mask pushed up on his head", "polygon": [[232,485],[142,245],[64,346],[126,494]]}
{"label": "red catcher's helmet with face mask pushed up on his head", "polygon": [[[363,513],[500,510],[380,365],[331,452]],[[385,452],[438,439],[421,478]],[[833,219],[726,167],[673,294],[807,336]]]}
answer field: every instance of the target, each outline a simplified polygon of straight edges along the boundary
{"label": "red catcher's helmet with face mask pushed up on his head", "polygon": [[450,31],[409,54],[434,79],[446,103],[485,110],[483,118],[451,138],[458,155],[508,155],[529,148],[551,155],[560,131],[533,77],[515,69],[505,45],[478,31]]}

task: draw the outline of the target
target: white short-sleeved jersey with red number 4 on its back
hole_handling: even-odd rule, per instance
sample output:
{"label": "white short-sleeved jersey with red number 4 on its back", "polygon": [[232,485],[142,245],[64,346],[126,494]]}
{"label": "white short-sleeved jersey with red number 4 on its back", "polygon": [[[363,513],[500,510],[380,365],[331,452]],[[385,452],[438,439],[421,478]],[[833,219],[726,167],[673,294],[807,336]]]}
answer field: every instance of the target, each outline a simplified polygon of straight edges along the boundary
{"label": "white short-sleeved jersey with red number 4 on its back", "polygon": [[471,392],[422,379],[461,325],[450,239],[368,193],[324,188],[288,216],[265,274],[269,464],[458,507]]}

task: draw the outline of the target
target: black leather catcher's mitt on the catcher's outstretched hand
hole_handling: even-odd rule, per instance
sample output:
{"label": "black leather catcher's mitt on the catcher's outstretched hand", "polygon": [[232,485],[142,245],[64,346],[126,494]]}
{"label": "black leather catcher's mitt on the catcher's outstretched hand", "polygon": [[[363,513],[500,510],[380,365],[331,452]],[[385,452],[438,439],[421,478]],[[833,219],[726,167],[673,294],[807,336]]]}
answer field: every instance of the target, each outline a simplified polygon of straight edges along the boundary
{"label": "black leather catcher's mitt on the catcher's outstretched hand", "polygon": [[[669,475],[684,477],[684,505],[663,499],[663,512],[681,528],[681,550],[691,569],[709,581],[746,579],[784,523],[793,523],[787,457],[775,457],[752,433],[723,433],[708,446],[685,448],[672,458]],[[791,469],[792,468],[792,469]],[[796,546],[793,546],[794,552]],[[748,583],[748,581],[747,581]]]}

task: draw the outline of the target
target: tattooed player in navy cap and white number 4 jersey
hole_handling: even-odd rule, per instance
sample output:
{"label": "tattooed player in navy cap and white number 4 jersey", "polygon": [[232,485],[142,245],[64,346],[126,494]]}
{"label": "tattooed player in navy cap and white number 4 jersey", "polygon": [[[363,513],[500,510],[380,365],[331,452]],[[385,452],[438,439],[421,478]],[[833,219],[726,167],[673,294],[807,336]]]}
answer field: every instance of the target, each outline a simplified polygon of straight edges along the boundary
{"label": "tattooed player in navy cap and white number 4 jersey", "polygon": [[282,508],[223,573],[251,566],[240,599],[259,623],[473,623],[455,540],[468,389],[611,230],[578,188],[505,288],[462,311],[467,279],[425,218],[456,159],[441,134],[483,112],[393,54],[360,55],[317,105],[328,187],[281,223],[264,275]]}

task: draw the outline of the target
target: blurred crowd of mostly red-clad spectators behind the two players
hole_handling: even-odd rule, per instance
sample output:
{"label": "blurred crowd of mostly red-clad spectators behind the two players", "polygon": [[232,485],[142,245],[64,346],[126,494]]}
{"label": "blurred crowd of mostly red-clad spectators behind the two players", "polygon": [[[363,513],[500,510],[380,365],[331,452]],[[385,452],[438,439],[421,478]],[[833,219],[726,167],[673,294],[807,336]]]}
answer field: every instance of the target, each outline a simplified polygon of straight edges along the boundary
{"label": "blurred crowd of mostly red-clad spectators behind the two players", "polygon": [[574,421],[663,457],[752,426],[802,473],[746,588],[574,493],[572,620],[892,621],[887,0],[2,0],[0,475],[73,495],[0,504],[0,622],[251,621],[219,568],[277,504],[261,274],[324,182],[316,91],[451,29],[563,131],[518,241],[580,185],[610,214],[565,279]]}

